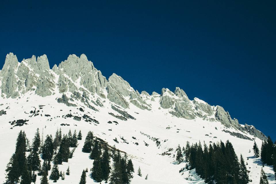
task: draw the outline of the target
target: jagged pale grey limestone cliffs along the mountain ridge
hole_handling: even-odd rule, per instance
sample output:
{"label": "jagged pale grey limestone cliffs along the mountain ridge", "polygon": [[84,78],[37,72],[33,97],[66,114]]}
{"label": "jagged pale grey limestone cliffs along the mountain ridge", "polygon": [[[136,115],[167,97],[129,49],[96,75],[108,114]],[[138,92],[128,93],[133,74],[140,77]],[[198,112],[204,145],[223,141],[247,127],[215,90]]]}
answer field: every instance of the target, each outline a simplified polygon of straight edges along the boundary
{"label": "jagged pale grey limestone cliffs along the mountain ridge", "polygon": [[76,106],[74,100],[81,101],[95,111],[98,111],[99,107],[105,108],[104,102],[108,100],[113,110],[125,112],[124,118],[130,116],[125,117],[127,112],[118,108],[127,110],[137,107],[151,111],[152,104],[159,102],[158,109],[162,108],[172,116],[189,120],[201,118],[209,122],[221,122],[226,128],[234,128],[260,139],[267,139],[254,126],[241,125],[237,119],[232,119],[223,107],[210,106],[198,98],[190,100],[185,91],[179,87],[176,87],[174,92],[163,88],[161,94],[153,92],[150,95],[146,91],[140,94],[116,74],[112,74],[107,80],[84,54],[80,57],[69,55],[67,60],[62,61],[58,66],[55,64],[50,69],[46,55],[37,58],[33,55],[29,59],[18,62],[16,55],[9,53],[0,70],[0,90],[1,98],[17,98],[25,93],[46,97],[57,92],[60,94],[57,98],[59,103]]}

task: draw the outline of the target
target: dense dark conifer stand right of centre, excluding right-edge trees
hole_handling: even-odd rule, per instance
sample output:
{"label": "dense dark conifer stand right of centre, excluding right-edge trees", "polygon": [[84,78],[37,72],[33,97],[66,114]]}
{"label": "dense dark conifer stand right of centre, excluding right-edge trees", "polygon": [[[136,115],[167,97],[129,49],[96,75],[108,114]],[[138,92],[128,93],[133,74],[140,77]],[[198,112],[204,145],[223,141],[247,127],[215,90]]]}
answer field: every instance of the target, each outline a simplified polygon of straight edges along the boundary
{"label": "dense dark conifer stand right of centre, excluding right-edge trees", "polygon": [[[248,183],[248,170],[244,158],[240,155],[238,159],[235,150],[229,140],[226,143],[219,143],[203,146],[201,142],[190,145],[187,141],[186,147],[182,149],[177,147],[176,160],[183,161],[185,155],[186,169],[194,169],[196,173],[205,180],[206,183],[217,184],[246,184]],[[183,171],[181,169],[179,172]]]}

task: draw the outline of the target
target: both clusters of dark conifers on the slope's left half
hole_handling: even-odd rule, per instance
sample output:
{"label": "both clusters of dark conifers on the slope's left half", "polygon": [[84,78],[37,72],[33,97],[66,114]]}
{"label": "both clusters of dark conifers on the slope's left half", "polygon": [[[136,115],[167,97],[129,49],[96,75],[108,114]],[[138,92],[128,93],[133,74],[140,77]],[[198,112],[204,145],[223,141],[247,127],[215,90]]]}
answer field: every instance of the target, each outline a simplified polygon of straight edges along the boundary
{"label": "both clusters of dark conifers on the slope's left half", "polygon": [[[62,135],[61,129],[55,133],[55,138],[52,135],[47,135],[45,141],[40,139],[39,129],[35,133],[32,145],[26,138],[24,131],[20,131],[16,140],[15,153],[9,160],[6,168],[6,183],[7,184],[30,184],[36,182],[37,175],[41,177],[41,184],[48,184],[48,175],[51,170],[49,179],[57,182],[60,178],[65,179],[64,172],[58,168],[62,162],[68,162],[72,158],[73,153],[78,146],[78,140],[82,139],[81,131],[78,135],[76,131],[72,134],[71,130],[66,135]],[[70,147],[72,149],[70,150]],[[94,160],[91,168],[90,177],[96,182],[108,181],[111,184],[128,184],[133,178],[134,168],[131,159],[128,159],[127,154],[123,156],[116,147],[109,147],[97,140],[91,131],[88,132],[82,151],[90,153],[89,158]],[[26,156],[26,153],[29,153]],[[43,163],[41,165],[41,159]],[[110,167],[110,159],[112,158],[112,169]],[[51,163],[53,164],[51,168]],[[81,174],[80,184],[86,183],[86,173],[88,168],[84,169]],[[141,175],[141,169],[138,173]],[[66,175],[70,175],[69,167],[66,170]],[[145,178],[147,179],[147,177]]]}

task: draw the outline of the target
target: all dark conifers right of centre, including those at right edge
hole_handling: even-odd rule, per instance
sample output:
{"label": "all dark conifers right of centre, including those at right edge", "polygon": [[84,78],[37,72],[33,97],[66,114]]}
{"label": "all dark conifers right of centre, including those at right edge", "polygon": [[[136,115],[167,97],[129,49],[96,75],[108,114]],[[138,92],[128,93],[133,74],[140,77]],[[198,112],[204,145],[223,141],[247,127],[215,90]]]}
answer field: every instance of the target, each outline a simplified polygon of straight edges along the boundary
{"label": "all dark conifers right of centre, including those at right edge", "polygon": [[[273,143],[270,137],[262,142],[261,153],[256,142],[253,145],[254,156],[261,156],[261,161],[264,164],[273,166],[276,178],[276,141]],[[183,155],[185,159],[183,159]],[[176,161],[178,163],[187,162],[186,167],[181,169],[194,169],[196,173],[204,179],[206,183],[224,184],[246,184],[250,180],[246,168],[244,158],[240,155],[240,160],[235,154],[232,144],[227,140],[226,143],[213,143],[209,146],[204,142],[202,144],[195,143],[190,145],[187,141],[186,147],[181,149],[178,145],[176,149]],[[247,158],[248,160],[248,158]],[[260,184],[268,184],[268,179],[264,170],[261,169]]]}

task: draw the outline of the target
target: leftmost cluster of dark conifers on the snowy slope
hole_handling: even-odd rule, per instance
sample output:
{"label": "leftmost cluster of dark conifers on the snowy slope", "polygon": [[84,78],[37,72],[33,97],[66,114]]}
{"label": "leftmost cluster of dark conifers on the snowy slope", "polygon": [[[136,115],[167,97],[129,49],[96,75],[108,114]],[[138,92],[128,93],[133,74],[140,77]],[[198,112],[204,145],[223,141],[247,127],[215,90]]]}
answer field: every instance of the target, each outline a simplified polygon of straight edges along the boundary
{"label": "leftmost cluster of dark conifers on the snowy slope", "polygon": [[[24,131],[18,133],[16,139],[15,153],[11,156],[6,167],[6,183],[7,184],[30,184],[36,181],[37,175],[34,171],[38,171],[37,174],[41,177],[41,184],[48,184],[48,171],[51,170],[51,161],[53,161],[53,167],[49,179],[56,182],[60,177],[64,179],[64,172],[58,170],[58,164],[62,162],[68,162],[68,158],[72,158],[74,149],[77,147],[78,140],[81,140],[82,135],[79,131],[76,135],[69,130],[68,135],[63,135],[61,129],[56,132],[55,138],[52,135],[47,135],[45,142],[40,139],[39,129],[37,129],[32,146],[28,147],[28,139]],[[59,147],[58,151],[57,148]],[[69,147],[74,147],[70,151]],[[26,157],[26,152],[29,152]],[[43,159],[41,166],[40,156]],[[69,175],[69,168],[66,174]]]}

